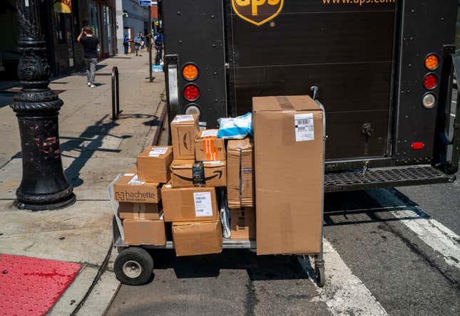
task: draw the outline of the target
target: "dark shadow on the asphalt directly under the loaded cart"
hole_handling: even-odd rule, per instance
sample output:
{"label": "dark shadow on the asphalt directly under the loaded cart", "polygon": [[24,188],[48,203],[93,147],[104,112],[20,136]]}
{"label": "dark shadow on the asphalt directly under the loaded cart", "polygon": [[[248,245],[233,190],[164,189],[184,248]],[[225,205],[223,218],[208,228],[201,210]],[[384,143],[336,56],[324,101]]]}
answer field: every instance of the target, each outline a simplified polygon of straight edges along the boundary
{"label": "dark shadow on the asphalt directly under the loaded cart", "polygon": [[303,280],[309,278],[296,256],[257,256],[247,249],[223,249],[208,256],[175,257],[168,249],[152,251],[155,270],[174,269],[181,278],[216,278],[221,269],[246,270],[250,280]]}

